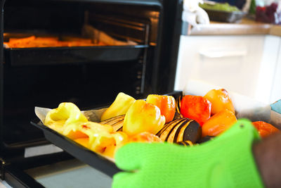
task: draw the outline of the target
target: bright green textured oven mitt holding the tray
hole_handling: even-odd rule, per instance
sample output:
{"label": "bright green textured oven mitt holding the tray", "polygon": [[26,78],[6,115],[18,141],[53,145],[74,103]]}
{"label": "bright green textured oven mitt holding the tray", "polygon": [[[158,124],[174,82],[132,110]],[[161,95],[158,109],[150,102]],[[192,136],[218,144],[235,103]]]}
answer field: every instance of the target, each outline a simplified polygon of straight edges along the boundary
{"label": "bright green textured oven mitt holding the tray", "polygon": [[131,143],[117,151],[112,187],[263,187],[252,143],[259,134],[248,120],[195,146]]}

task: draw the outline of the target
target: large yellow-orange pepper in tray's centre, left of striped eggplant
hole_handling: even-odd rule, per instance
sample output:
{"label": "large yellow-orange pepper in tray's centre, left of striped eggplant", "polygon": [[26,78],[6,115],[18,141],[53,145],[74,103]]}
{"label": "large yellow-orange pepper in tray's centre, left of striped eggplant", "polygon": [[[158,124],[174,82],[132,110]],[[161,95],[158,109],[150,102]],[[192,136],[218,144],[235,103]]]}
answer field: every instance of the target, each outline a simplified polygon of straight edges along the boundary
{"label": "large yellow-orange pepper in tray's centre, left of striped eggplant", "polygon": [[129,136],[141,132],[156,134],[164,124],[165,116],[157,106],[136,100],[125,115],[123,131]]}

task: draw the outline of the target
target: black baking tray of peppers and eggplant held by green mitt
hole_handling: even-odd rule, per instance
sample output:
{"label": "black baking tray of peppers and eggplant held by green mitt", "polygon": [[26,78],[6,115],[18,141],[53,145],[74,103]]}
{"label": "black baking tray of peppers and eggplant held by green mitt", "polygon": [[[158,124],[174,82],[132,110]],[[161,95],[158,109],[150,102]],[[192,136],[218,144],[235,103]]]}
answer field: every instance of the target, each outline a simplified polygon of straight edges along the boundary
{"label": "black baking tray of peppers and eggplant held by green mitt", "polygon": [[[177,99],[179,96],[183,95],[183,92],[174,91],[165,95],[171,95],[174,96],[175,99]],[[49,127],[41,123],[39,118],[32,120],[30,123],[42,130],[44,133],[44,137],[49,142],[55,144],[55,146],[58,146],[60,149],[63,149],[67,153],[70,153],[70,155],[74,156],[80,161],[90,165],[93,168],[96,168],[97,170],[100,170],[106,175],[112,177],[113,175],[115,175],[115,173],[121,171],[112,161],[109,161],[107,158],[98,155],[98,153],[87,149],[77,142],[74,142],[72,139],[65,137],[63,134],[55,132],[55,130],[50,129]]]}

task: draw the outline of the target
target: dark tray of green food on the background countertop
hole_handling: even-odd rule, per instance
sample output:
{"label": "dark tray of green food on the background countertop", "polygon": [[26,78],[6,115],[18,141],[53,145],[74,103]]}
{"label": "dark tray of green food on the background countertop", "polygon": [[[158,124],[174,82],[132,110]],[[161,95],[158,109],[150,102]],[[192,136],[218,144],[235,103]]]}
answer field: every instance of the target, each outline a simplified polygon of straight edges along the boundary
{"label": "dark tray of green food on the background countertop", "polygon": [[242,20],[246,13],[242,11],[215,11],[204,8],[209,15],[210,20],[217,22],[226,22],[226,23],[238,23]]}

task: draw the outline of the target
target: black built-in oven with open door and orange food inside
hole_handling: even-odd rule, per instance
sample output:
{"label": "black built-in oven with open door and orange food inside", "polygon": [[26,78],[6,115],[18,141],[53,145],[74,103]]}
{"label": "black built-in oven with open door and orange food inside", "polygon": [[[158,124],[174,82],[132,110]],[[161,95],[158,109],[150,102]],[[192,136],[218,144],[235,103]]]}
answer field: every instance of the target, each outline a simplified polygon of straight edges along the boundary
{"label": "black built-in oven with open door and orange food inside", "polygon": [[106,106],[119,92],[136,99],[173,92],[182,8],[181,0],[1,0],[1,179],[48,187],[35,176],[60,166],[75,176],[84,172],[89,177],[81,182],[90,187],[93,176],[97,187],[110,181],[48,142],[30,124],[34,106],[70,101],[86,110]]}

